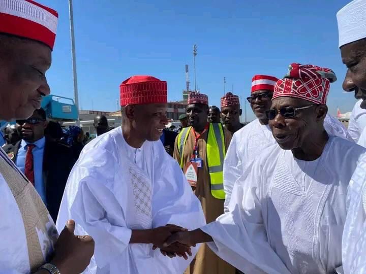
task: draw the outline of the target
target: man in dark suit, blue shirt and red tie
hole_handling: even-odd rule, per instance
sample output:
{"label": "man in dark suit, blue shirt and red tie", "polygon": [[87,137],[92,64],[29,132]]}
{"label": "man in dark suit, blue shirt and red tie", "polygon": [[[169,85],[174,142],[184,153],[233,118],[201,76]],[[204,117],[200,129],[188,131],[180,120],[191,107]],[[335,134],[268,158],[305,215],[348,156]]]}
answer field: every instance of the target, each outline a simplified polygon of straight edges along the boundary
{"label": "man in dark suit, blue shirt and red tie", "polygon": [[4,151],[36,188],[56,222],[58,208],[75,163],[70,147],[45,138],[47,126],[43,109],[35,110],[26,120],[17,120],[21,126],[21,141],[4,146]]}

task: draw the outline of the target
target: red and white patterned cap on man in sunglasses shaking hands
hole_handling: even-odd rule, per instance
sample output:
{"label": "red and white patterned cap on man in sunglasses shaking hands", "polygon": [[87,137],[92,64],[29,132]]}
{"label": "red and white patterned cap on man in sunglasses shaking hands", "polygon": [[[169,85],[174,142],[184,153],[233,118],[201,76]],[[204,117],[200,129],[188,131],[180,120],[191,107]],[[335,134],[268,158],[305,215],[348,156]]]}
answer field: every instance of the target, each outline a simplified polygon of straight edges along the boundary
{"label": "red and white patterned cap on man in sunglasses shaking hands", "polygon": [[337,77],[330,68],[292,63],[288,74],[277,81],[272,99],[287,96],[326,104],[330,83],[335,81]]}

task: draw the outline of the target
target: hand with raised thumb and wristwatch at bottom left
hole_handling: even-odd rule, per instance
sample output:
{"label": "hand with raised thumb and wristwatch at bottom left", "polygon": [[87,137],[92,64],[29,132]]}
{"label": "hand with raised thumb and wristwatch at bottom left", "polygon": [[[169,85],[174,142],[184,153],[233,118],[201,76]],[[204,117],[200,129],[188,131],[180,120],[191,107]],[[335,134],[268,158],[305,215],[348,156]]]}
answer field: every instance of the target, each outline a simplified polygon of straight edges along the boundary
{"label": "hand with raised thumb and wristwatch at bottom left", "polygon": [[55,244],[53,260],[61,273],[81,273],[89,265],[94,254],[92,237],[74,235],[75,222],[69,220]]}

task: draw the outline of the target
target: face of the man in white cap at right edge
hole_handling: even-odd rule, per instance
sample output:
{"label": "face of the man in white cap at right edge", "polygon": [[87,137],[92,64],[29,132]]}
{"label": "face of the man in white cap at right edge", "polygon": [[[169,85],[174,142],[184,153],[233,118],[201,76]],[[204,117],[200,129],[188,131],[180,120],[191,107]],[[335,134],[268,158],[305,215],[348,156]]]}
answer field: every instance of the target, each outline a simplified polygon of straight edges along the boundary
{"label": "face of the man in white cap at right edge", "polygon": [[343,89],[353,91],[355,98],[362,99],[361,108],[366,109],[366,39],[342,46],[341,55],[348,68]]}

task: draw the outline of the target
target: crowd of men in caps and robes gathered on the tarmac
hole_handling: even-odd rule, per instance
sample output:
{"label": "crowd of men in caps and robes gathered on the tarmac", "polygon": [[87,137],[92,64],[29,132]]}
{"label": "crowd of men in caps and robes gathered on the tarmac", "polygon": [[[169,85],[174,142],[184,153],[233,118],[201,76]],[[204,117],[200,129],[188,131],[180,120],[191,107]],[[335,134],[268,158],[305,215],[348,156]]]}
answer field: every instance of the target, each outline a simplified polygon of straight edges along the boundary
{"label": "crowd of men in caps and robes gathered on the tarmac", "polygon": [[291,63],[254,75],[248,125],[237,95],[190,92],[177,132],[167,82],[132,76],[90,140],[40,108],[57,19],[0,1],[0,273],[366,273],[366,0],[337,14],[349,130],[334,72]]}

